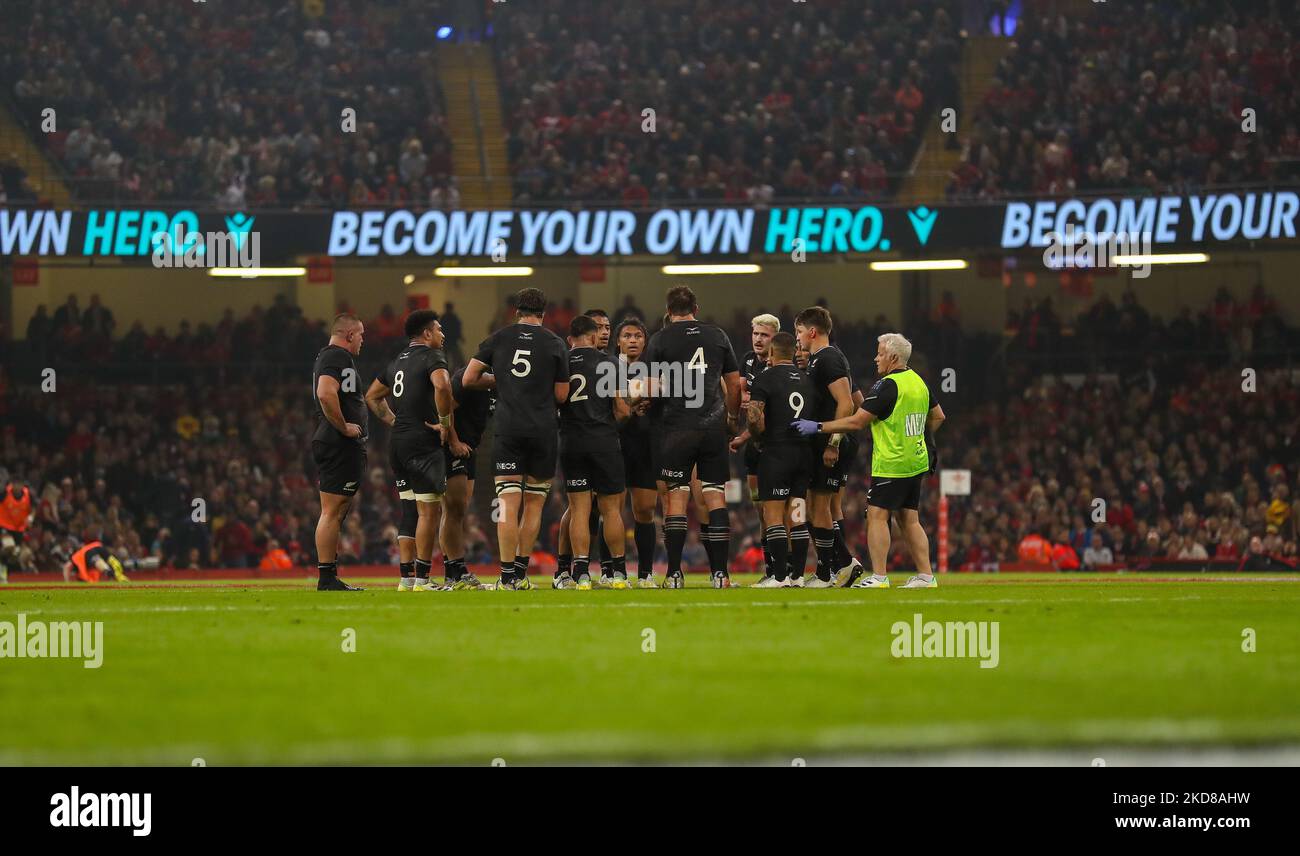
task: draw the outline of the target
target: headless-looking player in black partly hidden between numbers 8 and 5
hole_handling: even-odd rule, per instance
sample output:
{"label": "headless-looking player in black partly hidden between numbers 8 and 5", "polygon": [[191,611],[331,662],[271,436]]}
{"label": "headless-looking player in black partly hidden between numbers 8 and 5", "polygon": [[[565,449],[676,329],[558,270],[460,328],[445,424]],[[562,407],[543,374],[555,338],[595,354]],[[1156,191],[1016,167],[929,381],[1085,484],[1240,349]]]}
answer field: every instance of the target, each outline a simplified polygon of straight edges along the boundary
{"label": "headless-looking player in black partly hidden between numbers 8 and 5", "polygon": [[476,449],[497,406],[490,392],[497,386],[493,375],[478,377],[482,389],[467,388],[464,376],[464,371],[451,376],[451,438],[445,448],[447,494],[442,500],[442,563],[447,571],[446,585],[452,591],[484,587],[465,567],[465,515],[478,470]]}

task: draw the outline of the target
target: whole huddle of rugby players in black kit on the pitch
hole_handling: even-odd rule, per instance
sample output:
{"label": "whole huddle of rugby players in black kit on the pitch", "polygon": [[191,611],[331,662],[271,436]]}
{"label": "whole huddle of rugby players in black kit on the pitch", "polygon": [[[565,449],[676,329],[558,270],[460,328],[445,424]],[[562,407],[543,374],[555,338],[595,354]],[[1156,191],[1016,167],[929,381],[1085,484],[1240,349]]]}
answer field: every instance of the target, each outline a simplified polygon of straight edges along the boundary
{"label": "whole huddle of rugby players in black kit on the pitch", "polygon": [[[757,585],[805,584],[810,535],[818,570],[809,587],[849,585],[862,572],[845,545],[840,511],[855,440],[852,435],[807,438],[793,428],[801,418],[842,419],[862,399],[848,360],[829,345],[829,312],[822,307],[801,312],[797,337],[779,332],[774,316],[754,319],[754,350],[745,355],[742,379],[725,333],[696,319],[696,295],[685,286],[668,291],[664,327],[653,337],[634,317],[619,324],[618,358],[604,350],[611,334],[604,312],[577,316],[566,346],[542,327],[546,297],[541,290],[524,289],[516,306],[517,321],[488,337],[455,376],[441,350],[437,315],[412,312],[406,324],[407,349],[372,381],[364,403],[355,392],[352,363],[364,329],[355,317],[335,319],[330,345],[317,355],[313,371],[318,427],[312,451],[321,474],[322,506],[318,588],[358,591],[338,580],[333,559],[338,529],[365,471],[367,410],[393,428],[389,457],[403,507],[399,591],[482,587],[465,568],[463,522],[473,490],[473,450],[494,398],[498,589],[533,587],[528,557],[558,459],[569,507],[560,527],[555,588],[590,588],[589,555],[602,541],[599,584],[630,584],[621,515],[627,492],[638,587],[656,587],[656,502],[663,506],[668,557],[663,587],[684,585],[681,554],[693,494],[712,584],[729,587],[724,500],[729,444],[732,449],[745,444],[750,493],[760,506],[767,574]],[[615,395],[602,394],[618,369],[610,366],[616,359],[677,366],[698,372],[699,379],[694,392],[686,384],[668,382],[670,376],[651,376],[640,386],[633,382]],[[352,389],[347,388],[348,371]],[[737,436],[742,406],[749,427]],[[442,585],[430,571],[439,531],[446,565]]]}

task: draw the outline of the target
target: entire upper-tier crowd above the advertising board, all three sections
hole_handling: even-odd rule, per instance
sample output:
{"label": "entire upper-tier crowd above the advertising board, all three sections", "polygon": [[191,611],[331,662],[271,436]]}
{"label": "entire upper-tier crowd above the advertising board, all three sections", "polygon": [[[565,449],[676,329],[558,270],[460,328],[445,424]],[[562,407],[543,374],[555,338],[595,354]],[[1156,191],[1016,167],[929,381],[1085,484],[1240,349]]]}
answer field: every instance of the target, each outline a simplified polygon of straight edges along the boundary
{"label": "entire upper-tier crowd above the advertising board, all three sections", "polygon": [[[515,203],[885,199],[940,105],[976,117],[954,199],[1300,177],[1294,3],[1150,0],[1121,22],[1026,0],[989,90],[963,105],[971,5],[486,4]],[[432,35],[445,1],[312,17],[235,0],[216,29],[164,0],[9,7],[5,96],[32,129],[57,111],[34,137],[84,198],[460,204]],[[256,59],[222,68],[230,49]],[[8,155],[3,198],[32,198]]]}

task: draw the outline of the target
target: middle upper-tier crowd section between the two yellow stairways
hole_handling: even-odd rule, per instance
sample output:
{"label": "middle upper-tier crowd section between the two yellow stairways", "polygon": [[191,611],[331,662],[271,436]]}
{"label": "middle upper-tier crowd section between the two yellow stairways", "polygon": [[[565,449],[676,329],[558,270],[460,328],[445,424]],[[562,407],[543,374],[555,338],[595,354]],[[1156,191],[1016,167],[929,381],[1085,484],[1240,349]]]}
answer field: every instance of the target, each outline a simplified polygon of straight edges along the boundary
{"label": "middle upper-tier crowd section between the two yellow stairways", "polygon": [[935,104],[957,98],[958,5],[506,9],[516,203],[885,198]]}

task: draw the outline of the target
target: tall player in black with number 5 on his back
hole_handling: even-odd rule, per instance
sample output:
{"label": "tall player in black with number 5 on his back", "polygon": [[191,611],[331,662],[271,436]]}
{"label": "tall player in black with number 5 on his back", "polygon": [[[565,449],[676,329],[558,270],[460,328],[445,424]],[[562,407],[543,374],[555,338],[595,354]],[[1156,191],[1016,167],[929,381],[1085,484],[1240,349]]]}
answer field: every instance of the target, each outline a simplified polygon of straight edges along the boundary
{"label": "tall player in black with number 5 on his back", "polygon": [[542,327],[546,294],[524,289],[515,297],[517,321],[497,330],[478,345],[465,368],[465,386],[480,379],[497,379],[497,437],[493,471],[500,519],[497,541],[500,552],[498,591],[533,588],[528,557],[542,526],[542,506],[555,477],[556,407],[568,399],[568,349],[555,333]]}

